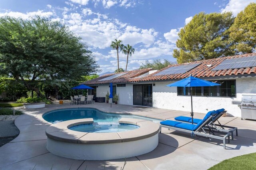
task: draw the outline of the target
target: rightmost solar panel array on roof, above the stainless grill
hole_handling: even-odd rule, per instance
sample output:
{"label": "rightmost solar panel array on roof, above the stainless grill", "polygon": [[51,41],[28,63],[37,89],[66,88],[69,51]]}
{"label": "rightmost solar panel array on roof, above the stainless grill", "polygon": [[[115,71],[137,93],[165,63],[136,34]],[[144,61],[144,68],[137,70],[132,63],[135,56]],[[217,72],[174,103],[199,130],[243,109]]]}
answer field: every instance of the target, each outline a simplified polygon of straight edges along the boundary
{"label": "rightmost solar panel array on roof, above the stainless grill", "polygon": [[246,68],[256,66],[256,56],[241,57],[237,59],[226,59],[212,70],[225,70],[234,68]]}

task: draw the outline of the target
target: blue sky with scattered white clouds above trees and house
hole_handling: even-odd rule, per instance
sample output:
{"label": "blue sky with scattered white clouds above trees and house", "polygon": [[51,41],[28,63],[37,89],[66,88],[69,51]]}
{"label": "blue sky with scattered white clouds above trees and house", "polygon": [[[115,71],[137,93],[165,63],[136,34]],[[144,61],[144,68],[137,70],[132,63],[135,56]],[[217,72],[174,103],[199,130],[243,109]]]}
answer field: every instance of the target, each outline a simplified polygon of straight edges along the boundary
{"label": "blue sky with scattered white clouds above trees and house", "polygon": [[[102,72],[117,68],[116,51],[109,46],[115,38],[130,44],[128,70],[145,61],[168,59],[176,48],[178,31],[199,12],[232,11],[234,16],[256,0],[1,0],[0,16],[29,19],[51,17],[82,37]],[[120,67],[126,55],[120,54]]]}

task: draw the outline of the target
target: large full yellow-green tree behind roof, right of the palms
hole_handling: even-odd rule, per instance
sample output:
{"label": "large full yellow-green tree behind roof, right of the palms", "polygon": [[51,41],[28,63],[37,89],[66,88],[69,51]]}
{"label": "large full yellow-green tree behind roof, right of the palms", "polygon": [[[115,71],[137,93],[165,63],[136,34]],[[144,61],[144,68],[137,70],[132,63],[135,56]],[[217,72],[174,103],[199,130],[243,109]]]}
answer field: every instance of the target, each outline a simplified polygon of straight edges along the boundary
{"label": "large full yellow-green tree behind roof, right of the palms", "polygon": [[173,57],[178,63],[214,59],[234,54],[227,30],[234,23],[231,12],[200,12],[179,32]]}

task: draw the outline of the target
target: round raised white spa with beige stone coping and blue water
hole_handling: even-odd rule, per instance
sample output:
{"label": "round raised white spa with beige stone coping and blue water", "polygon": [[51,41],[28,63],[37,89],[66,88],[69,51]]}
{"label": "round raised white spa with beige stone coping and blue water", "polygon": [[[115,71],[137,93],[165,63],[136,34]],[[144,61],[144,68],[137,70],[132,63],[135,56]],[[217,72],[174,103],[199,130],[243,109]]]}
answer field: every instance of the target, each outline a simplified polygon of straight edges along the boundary
{"label": "round raised white spa with beige stone coping and blue water", "polygon": [[158,145],[159,125],[143,119],[121,118],[102,125],[92,118],[63,121],[46,129],[47,149],[79,160],[110,160],[148,153]]}

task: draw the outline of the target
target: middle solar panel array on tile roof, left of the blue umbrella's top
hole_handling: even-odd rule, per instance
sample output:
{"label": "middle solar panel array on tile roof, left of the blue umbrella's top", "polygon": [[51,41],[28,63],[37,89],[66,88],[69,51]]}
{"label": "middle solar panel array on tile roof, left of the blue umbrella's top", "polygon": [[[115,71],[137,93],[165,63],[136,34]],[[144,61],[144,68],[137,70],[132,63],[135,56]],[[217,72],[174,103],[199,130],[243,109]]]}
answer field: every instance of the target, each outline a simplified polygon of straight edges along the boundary
{"label": "middle solar panel array on tile roof, left of the blue umbrella's top", "polygon": [[196,66],[200,65],[201,63],[197,63],[197,64],[187,64],[187,65],[181,65],[181,66],[173,66],[170,67],[166,70],[163,70],[161,72],[158,72],[157,74],[155,74],[154,76],[159,76],[159,75],[169,75],[169,74],[182,74],[185,73],[193,68],[195,68]]}

